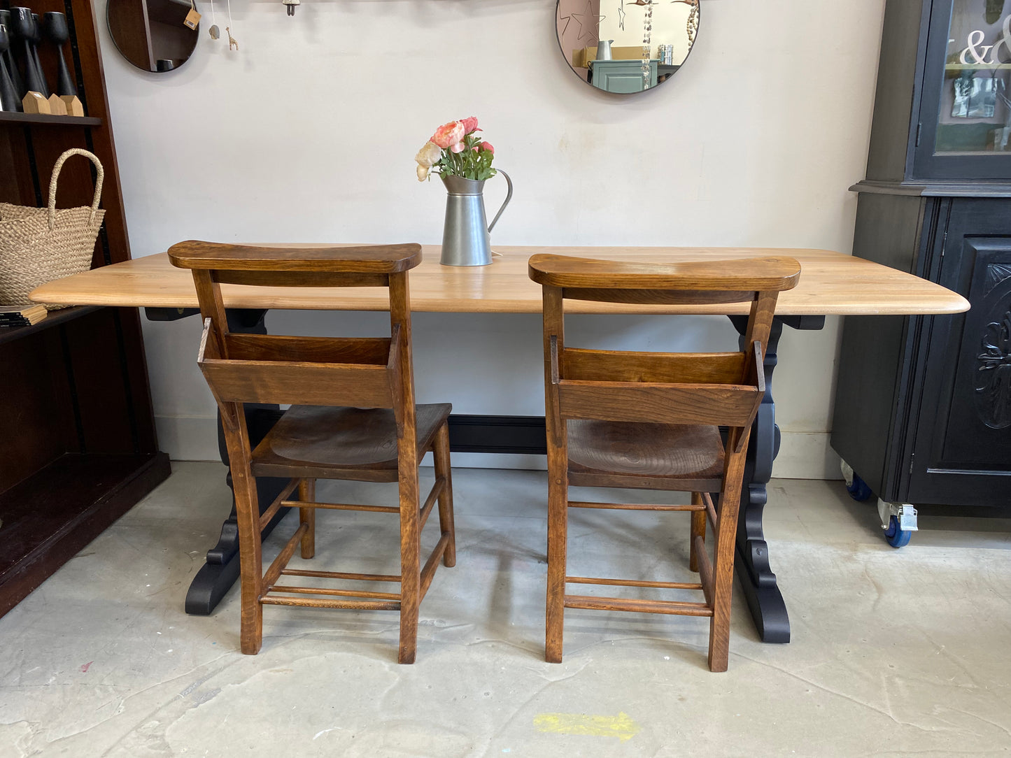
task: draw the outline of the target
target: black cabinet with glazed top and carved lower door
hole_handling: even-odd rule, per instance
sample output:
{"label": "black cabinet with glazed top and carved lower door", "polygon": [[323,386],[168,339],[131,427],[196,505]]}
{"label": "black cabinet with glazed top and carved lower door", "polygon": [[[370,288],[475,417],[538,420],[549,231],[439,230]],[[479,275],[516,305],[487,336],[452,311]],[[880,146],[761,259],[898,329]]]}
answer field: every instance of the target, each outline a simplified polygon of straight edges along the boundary
{"label": "black cabinet with glazed top and carved lower door", "polygon": [[[889,502],[1011,504],[1006,5],[886,6],[853,255],[972,303],[957,315],[845,319],[832,447]],[[977,90],[978,102],[959,99]]]}

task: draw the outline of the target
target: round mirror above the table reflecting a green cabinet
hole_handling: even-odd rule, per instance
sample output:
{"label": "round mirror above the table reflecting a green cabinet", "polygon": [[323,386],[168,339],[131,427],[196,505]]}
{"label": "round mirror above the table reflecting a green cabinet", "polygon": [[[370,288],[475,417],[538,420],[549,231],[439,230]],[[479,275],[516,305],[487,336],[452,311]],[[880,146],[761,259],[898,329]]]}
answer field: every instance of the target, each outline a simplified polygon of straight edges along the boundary
{"label": "round mirror above the table reflecting a green cabinet", "polygon": [[680,68],[699,31],[699,0],[558,0],[558,46],[605,92],[652,89]]}

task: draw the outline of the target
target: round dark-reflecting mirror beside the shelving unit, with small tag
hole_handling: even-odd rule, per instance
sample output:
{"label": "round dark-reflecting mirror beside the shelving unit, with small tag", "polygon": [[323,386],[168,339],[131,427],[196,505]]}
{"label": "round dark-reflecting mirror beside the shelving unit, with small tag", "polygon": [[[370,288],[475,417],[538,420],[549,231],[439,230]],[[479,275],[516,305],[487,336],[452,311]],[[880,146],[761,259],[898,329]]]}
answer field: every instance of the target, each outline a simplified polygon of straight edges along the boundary
{"label": "round dark-reflecting mirror beside the shelving unit, with small tag", "polygon": [[[193,54],[199,23],[190,0],[108,0],[106,18],[112,41],[123,58],[145,71],[178,69]],[[197,19],[199,16],[197,16]]]}

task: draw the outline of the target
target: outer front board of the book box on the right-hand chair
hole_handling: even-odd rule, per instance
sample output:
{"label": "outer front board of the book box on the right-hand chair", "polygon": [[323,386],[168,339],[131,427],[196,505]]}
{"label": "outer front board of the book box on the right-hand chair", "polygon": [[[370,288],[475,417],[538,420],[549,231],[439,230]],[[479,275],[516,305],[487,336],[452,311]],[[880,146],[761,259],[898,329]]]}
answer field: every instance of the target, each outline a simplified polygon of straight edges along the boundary
{"label": "outer front board of the book box on the right-hand chair", "polygon": [[655,382],[558,383],[562,418],[742,427],[761,403],[757,387]]}

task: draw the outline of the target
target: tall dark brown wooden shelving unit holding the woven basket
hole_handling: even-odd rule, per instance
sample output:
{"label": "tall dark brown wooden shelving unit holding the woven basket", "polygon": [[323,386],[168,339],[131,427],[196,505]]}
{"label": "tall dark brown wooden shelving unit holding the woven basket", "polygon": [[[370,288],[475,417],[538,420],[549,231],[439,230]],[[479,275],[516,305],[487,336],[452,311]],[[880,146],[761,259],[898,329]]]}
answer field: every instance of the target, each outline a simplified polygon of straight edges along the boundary
{"label": "tall dark brown wooden shelving unit holding the woven basket", "polygon": [[[68,15],[88,116],[0,113],[0,201],[44,205],[56,159],[85,148],[105,168],[105,220],[92,266],[129,259],[92,0],[34,0]],[[55,81],[56,59],[39,50]],[[68,62],[69,63],[69,62]],[[69,161],[58,207],[90,205],[91,164]],[[76,306],[0,328],[0,615],[169,474],[158,450],[135,308]],[[85,581],[86,579],[82,579]]]}

